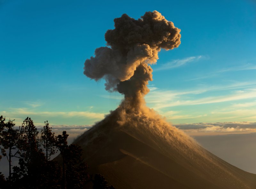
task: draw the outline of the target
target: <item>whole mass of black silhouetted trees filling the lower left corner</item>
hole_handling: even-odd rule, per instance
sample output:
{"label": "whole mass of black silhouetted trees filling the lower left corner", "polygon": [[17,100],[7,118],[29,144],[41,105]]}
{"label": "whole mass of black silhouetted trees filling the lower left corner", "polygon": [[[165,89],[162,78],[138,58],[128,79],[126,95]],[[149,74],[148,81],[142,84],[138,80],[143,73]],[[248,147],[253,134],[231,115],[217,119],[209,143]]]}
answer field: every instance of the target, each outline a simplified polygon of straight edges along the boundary
{"label": "whole mass of black silhouetted trees filling the lower left corner", "polygon": [[[27,117],[19,129],[14,126],[13,120],[5,122],[5,118],[0,116],[0,148],[2,155],[7,156],[10,162],[9,178],[4,179],[0,172],[0,188],[84,188],[90,177],[88,165],[82,159],[83,149],[76,144],[68,146],[66,131],[54,137],[52,128],[46,121],[39,139],[38,131],[30,118]],[[50,160],[56,149],[59,149],[62,156],[62,167],[58,162]],[[19,158],[19,166],[13,166],[11,173],[12,158]],[[115,189],[112,185],[108,186],[108,182],[99,174],[95,175],[93,183],[94,189]]]}

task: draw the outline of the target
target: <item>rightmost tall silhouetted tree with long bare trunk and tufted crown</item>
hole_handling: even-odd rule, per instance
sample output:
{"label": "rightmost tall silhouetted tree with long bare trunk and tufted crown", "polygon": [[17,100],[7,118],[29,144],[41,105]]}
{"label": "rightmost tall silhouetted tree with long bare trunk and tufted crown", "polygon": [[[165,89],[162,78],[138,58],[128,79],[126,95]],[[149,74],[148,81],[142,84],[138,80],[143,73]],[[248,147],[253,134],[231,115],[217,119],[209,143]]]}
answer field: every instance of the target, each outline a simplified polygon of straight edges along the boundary
{"label": "rightmost tall silhouetted tree with long bare trunk and tufted crown", "polygon": [[66,131],[62,132],[62,135],[56,136],[56,147],[60,150],[60,155],[62,157],[62,188],[66,189],[66,152],[68,148],[68,134]]}

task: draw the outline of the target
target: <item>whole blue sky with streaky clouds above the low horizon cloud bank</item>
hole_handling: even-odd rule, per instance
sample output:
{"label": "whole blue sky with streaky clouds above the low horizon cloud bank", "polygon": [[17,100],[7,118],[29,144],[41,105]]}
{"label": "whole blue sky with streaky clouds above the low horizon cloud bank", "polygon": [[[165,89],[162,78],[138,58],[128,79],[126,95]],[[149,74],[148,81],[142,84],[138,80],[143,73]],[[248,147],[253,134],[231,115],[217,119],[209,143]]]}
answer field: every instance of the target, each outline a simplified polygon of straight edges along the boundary
{"label": "whole blue sky with streaky clouds above the low horizon cloud bank", "polygon": [[123,98],[83,74],[123,13],[157,10],[181,45],[153,65],[147,105],[174,124],[256,120],[256,3],[0,1],[0,114],[20,124],[92,125]]}

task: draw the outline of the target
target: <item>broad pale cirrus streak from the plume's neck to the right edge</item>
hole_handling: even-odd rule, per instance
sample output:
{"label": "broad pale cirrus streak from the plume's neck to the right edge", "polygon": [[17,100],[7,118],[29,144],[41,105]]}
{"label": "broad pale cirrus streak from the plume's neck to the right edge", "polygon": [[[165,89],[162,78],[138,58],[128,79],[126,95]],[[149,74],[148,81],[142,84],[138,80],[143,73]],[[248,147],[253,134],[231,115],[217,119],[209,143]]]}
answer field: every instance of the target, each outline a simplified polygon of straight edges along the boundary
{"label": "broad pale cirrus streak from the plume's neck to the right edge", "polygon": [[[237,82],[222,86],[200,86],[186,91],[155,90],[145,98],[154,109],[162,109],[180,105],[200,105],[256,98],[255,83]],[[237,90],[238,89],[238,90]],[[233,90],[233,91],[232,91]],[[225,95],[202,96],[209,91],[228,91]]]}

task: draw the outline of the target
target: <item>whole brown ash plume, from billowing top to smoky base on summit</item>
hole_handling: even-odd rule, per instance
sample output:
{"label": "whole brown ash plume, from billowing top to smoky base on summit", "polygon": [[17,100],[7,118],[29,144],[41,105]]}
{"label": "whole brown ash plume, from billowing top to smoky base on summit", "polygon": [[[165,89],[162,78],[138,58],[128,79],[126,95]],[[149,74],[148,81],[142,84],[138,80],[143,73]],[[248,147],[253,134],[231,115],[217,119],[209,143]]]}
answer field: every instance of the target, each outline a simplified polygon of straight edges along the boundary
{"label": "whole brown ash plume, from billowing top to smoky base on summit", "polygon": [[86,76],[96,81],[104,78],[106,90],[124,94],[122,103],[105,121],[115,121],[109,125],[117,124],[123,129],[140,126],[141,130],[151,128],[156,135],[169,133],[165,137],[170,140],[172,131],[176,133],[178,129],[170,128],[153,109],[147,108],[143,97],[149,92],[148,81],[152,81],[149,64],[156,63],[161,48],[170,50],[180,45],[180,29],[157,11],[146,12],[138,20],[123,14],[114,22],[115,29],[105,34],[110,47],[97,48],[95,57],[84,63]]}

